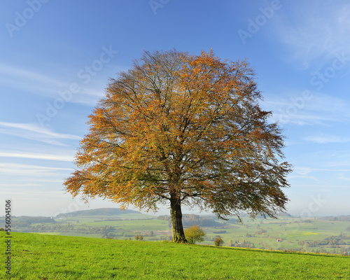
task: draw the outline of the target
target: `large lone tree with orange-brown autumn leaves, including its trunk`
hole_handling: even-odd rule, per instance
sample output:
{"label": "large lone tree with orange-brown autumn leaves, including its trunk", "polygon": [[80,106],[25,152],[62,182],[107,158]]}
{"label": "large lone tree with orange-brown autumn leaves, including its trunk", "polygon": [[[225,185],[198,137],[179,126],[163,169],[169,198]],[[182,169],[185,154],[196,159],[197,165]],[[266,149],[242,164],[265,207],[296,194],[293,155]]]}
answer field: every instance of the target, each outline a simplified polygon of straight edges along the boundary
{"label": "large lone tree with orange-brown autumn leaves, including its trunk", "polygon": [[246,61],[222,61],[212,51],[144,52],[111,79],[89,116],[66,190],[122,207],[170,204],[176,242],[186,242],[182,205],[219,218],[286,210],[281,188],[291,167],[253,78]]}

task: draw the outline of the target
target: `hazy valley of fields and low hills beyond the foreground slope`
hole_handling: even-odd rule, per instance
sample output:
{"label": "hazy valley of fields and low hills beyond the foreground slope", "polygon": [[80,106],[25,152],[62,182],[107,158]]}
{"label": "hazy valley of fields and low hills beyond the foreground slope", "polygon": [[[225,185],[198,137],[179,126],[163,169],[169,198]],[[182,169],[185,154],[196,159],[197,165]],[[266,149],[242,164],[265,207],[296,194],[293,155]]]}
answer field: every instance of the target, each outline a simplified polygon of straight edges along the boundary
{"label": "hazy valley of fields and low hills beyond the foreground slope", "polygon": [[[122,240],[135,240],[138,235],[144,241],[169,241],[169,221],[169,216],[105,208],[56,217],[13,217],[13,231]],[[233,217],[222,221],[215,216],[183,215],[185,228],[198,225],[204,230],[203,245],[214,245],[220,236],[223,246],[350,255],[350,216],[298,218],[284,214],[278,219],[258,217],[254,221],[243,216],[242,222]],[[3,218],[0,228],[4,228]]]}

